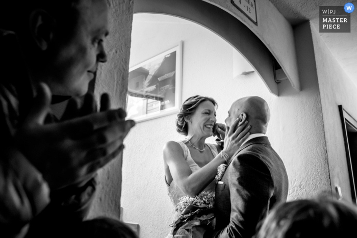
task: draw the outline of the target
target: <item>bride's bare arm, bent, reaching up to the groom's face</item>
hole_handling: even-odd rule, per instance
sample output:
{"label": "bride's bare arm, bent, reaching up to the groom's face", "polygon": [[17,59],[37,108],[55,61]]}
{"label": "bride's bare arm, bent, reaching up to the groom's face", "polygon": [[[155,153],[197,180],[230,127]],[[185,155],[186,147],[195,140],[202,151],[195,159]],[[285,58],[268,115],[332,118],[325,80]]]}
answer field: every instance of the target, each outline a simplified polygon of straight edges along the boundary
{"label": "bride's bare arm, bent, reaching up to the groom's face", "polygon": [[[248,138],[250,126],[243,123],[235,130],[235,122],[232,129],[227,131],[225,138],[225,151],[232,156],[239,149],[241,144]],[[164,146],[164,163],[168,166],[172,179],[177,186],[188,196],[195,196],[205,189],[217,174],[217,167],[224,164],[224,158],[219,153],[210,163],[192,173],[189,165],[185,161],[184,151],[180,144],[169,141]]]}

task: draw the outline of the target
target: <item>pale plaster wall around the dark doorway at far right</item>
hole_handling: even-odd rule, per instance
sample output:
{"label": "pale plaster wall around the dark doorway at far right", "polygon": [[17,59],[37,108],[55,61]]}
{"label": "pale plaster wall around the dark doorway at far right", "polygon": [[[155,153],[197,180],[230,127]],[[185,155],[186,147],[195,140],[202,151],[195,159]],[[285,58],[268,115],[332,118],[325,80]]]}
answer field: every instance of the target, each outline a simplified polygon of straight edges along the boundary
{"label": "pale plaster wall around the dark doorway at far right", "polygon": [[[331,186],[340,186],[345,199],[351,199],[346,151],[338,105],[357,119],[357,87],[342,69],[312,24],[312,37],[321,94]],[[318,25],[317,25],[318,27]],[[346,33],[347,34],[347,33]],[[341,34],[344,37],[344,34]],[[352,54],[352,52],[346,52]]]}

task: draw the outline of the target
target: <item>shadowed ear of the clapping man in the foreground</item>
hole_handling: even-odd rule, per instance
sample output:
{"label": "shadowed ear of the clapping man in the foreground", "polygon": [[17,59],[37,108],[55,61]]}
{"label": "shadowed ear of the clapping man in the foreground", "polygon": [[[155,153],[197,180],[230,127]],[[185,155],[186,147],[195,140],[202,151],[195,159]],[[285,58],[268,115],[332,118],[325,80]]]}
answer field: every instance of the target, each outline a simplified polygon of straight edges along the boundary
{"label": "shadowed ear of the clapping man in the foreground", "polygon": [[53,39],[55,19],[45,10],[34,10],[29,19],[33,40],[41,50],[46,50]]}

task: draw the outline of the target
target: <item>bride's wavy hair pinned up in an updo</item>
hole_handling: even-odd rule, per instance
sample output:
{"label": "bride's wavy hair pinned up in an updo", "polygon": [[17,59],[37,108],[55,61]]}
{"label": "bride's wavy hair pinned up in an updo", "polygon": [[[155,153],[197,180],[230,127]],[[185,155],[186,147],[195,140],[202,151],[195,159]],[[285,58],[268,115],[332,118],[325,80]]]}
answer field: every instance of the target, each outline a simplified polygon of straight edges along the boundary
{"label": "bride's wavy hair pinned up in an updo", "polygon": [[188,126],[187,121],[190,118],[191,114],[196,111],[196,108],[201,102],[210,101],[213,103],[215,108],[217,108],[217,102],[212,97],[204,97],[204,96],[192,96],[186,99],[184,103],[182,103],[179,114],[177,114],[176,119],[176,130],[178,133],[187,136]]}

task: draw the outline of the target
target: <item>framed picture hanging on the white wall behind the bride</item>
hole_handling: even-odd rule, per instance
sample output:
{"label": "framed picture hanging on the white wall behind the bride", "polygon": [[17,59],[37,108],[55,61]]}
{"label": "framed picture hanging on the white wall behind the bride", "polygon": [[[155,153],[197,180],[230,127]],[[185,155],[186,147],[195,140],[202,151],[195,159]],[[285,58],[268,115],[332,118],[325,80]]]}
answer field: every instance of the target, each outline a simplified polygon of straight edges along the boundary
{"label": "framed picture hanging on the white wall behind the bride", "polygon": [[129,69],[127,119],[141,122],[179,112],[182,42]]}

